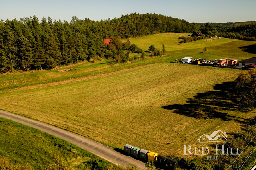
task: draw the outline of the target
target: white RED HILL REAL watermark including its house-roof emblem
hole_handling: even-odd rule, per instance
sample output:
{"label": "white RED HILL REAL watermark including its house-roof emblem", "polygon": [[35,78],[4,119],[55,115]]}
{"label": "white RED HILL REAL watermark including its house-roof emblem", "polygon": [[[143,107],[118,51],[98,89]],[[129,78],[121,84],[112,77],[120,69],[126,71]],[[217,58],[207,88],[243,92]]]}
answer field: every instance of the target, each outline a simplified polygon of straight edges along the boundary
{"label": "white RED HILL REAL watermark including its house-roof emblem", "polygon": [[[203,134],[199,137],[196,144],[199,145],[201,143],[201,146],[195,146],[192,147],[191,145],[184,145],[184,155],[190,155],[193,157],[188,157],[188,159],[208,159],[208,160],[217,160],[220,159],[232,159],[232,158],[238,158],[239,148],[230,148],[226,146],[225,144],[228,143],[228,136],[226,135],[226,132],[223,132],[222,130],[214,131],[210,135]],[[202,146],[207,143],[222,143],[220,144],[214,144],[211,146]],[[213,147],[213,148],[210,148]],[[215,154],[211,154],[211,156],[208,156],[210,154],[210,150],[215,152]],[[214,155],[214,156],[212,156]],[[197,157],[194,157],[197,156]]]}

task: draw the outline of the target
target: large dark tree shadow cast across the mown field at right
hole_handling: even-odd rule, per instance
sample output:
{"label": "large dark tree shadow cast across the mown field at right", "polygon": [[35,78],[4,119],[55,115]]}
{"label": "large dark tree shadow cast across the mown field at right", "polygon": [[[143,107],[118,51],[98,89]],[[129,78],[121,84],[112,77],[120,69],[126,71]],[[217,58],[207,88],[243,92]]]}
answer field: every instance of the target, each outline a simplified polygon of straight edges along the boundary
{"label": "large dark tree shadow cast across the mown field at right", "polygon": [[[228,115],[224,111],[238,111],[236,104],[237,94],[234,82],[215,84],[214,90],[198,93],[186,101],[187,104],[172,104],[162,106],[163,109],[172,110],[176,114],[199,119],[235,120],[241,123],[247,119]],[[239,110],[240,111],[240,110]]]}

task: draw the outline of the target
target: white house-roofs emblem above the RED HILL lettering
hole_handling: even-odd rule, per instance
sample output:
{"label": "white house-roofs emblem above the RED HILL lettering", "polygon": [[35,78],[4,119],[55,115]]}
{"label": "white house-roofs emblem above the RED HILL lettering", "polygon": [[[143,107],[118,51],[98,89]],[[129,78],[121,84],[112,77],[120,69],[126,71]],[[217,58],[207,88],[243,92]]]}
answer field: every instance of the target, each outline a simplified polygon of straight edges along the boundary
{"label": "white house-roofs emblem above the RED HILL lettering", "polygon": [[228,143],[228,137],[226,132],[222,130],[214,131],[211,135],[202,135],[199,137],[197,143],[206,143],[206,142],[220,142],[220,143]]}

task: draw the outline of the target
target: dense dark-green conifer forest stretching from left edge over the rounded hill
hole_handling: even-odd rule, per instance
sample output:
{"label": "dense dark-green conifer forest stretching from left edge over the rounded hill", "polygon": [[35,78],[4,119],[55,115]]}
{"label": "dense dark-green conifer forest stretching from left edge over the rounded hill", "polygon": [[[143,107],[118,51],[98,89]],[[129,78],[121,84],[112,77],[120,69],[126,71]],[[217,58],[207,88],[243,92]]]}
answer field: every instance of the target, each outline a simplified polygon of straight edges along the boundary
{"label": "dense dark-green conifer forest stretching from left edge over the rounded hill", "polygon": [[49,69],[104,56],[104,38],[192,33],[198,26],[158,14],[129,14],[101,21],[52,21],[36,16],[0,21],[0,72]]}

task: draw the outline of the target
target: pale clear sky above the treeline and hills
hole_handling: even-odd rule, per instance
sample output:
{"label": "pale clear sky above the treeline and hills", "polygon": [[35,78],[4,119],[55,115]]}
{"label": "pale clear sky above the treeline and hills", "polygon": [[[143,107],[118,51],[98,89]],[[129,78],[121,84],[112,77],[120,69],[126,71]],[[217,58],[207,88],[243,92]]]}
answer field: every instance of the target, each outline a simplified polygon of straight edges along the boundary
{"label": "pale clear sky above the treeline and hills", "polygon": [[256,20],[256,0],[0,0],[0,20],[48,16],[70,21],[72,16],[94,21],[130,13],[156,13],[188,22]]}

